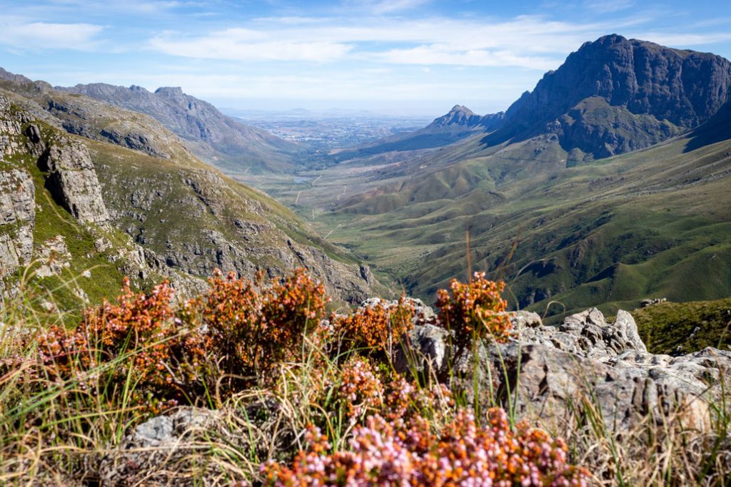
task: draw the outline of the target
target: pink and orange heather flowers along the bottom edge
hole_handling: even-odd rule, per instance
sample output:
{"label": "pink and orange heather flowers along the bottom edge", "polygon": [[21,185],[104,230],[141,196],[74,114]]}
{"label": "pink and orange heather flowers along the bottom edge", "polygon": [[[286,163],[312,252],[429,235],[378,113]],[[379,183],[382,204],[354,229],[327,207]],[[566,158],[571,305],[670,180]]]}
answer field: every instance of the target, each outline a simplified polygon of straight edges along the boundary
{"label": "pink and orange heather flowers along the bottom edge", "polygon": [[493,408],[479,426],[470,413],[433,433],[425,423],[399,429],[381,416],[355,428],[349,451],[330,449],[317,429],[292,467],[262,466],[268,486],[586,486],[588,473],[570,465],[567,446],[520,423],[510,429]]}

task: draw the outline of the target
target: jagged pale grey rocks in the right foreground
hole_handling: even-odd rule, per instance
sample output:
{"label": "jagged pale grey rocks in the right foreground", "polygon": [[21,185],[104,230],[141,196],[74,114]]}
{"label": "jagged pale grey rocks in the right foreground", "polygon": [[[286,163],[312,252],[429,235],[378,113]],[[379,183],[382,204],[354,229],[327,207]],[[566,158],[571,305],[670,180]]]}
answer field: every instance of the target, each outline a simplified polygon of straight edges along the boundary
{"label": "jagged pale grey rocks in the right foreground", "polygon": [[[680,357],[648,353],[625,311],[614,323],[596,308],[569,316],[558,327],[543,326],[536,318],[534,313],[512,315],[513,338],[480,349],[477,358],[482,390],[495,388],[519,413],[565,421],[567,413],[579,415],[592,407],[610,430],[629,429],[648,417],[667,421],[670,415],[707,429],[709,404],[731,380],[730,351],[706,348]],[[423,360],[417,370],[444,372],[450,356],[447,331],[415,326],[410,343],[406,353]],[[395,364],[412,372],[404,354],[404,349],[397,352]],[[469,384],[473,360],[454,367]]]}

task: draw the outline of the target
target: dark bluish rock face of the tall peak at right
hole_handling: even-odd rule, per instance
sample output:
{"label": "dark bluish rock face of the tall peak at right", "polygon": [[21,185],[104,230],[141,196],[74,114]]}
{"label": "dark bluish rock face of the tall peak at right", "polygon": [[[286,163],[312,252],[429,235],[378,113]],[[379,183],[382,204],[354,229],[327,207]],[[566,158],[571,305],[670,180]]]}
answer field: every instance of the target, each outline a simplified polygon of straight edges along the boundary
{"label": "dark bluish rock face of the tall peak at right", "polygon": [[595,158],[648,147],[709,120],[731,93],[731,63],[618,35],[587,42],[507,110],[485,142],[556,134]]}

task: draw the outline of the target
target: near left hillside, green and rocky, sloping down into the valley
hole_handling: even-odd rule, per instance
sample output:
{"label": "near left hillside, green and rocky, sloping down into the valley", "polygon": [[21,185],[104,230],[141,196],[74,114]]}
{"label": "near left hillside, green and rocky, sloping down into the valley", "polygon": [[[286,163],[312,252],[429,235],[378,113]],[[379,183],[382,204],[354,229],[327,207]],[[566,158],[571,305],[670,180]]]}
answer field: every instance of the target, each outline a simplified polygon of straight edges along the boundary
{"label": "near left hillside, green and rocky, sloping down into the valley", "polygon": [[74,309],[113,297],[123,275],[140,288],[170,277],[184,296],[216,268],[273,277],[304,266],[341,302],[377,285],[346,250],[202,163],[148,115],[3,81],[0,149],[6,299],[23,280]]}

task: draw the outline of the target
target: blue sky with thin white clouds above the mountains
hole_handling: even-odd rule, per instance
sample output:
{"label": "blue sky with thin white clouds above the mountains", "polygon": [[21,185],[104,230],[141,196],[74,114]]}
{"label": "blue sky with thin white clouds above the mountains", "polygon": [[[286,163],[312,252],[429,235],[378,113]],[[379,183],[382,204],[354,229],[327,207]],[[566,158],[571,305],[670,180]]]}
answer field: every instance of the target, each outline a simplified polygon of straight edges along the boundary
{"label": "blue sky with thin white clouds above the mountains", "polygon": [[731,58],[731,1],[0,0],[0,66],[240,110],[505,110],[605,34]]}

